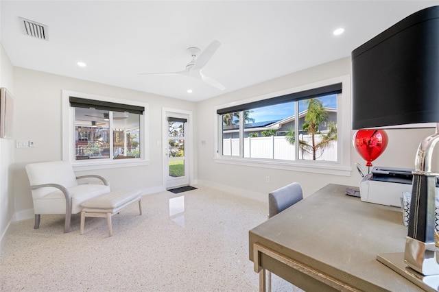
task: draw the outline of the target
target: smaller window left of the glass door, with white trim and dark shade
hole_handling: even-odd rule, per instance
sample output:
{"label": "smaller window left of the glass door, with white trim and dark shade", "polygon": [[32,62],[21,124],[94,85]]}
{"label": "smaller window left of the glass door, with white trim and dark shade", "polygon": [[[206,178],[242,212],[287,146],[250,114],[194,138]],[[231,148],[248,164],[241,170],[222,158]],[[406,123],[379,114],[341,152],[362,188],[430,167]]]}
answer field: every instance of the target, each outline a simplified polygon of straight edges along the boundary
{"label": "smaller window left of the glass door, with white trim and dark shade", "polygon": [[147,104],[63,91],[63,110],[63,159],[73,166],[146,162]]}

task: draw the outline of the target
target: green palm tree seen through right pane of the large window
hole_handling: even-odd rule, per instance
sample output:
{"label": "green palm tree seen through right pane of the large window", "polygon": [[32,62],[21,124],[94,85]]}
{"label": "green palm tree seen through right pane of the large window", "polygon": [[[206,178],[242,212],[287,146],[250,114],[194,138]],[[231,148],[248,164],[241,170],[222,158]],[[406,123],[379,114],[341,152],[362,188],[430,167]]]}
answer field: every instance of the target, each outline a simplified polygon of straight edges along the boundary
{"label": "green palm tree seen through right pane of the large window", "polygon": [[[330,121],[327,134],[322,134],[319,130],[319,125],[327,123],[329,114],[319,99],[311,98],[306,102],[308,104],[308,112],[305,116],[305,123],[302,125],[302,130],[311,135],[311,143],[299,140],[299,147],[302,151],[312,154],[313,160],[316,160],[316,153],[319,149],[321,150],[321,154],[323,154],[323,150],[329,147],[332,141],[337,140],[337,124]],[[322,137],[318,143],[316,142],[316,135]],[[289,130],[285,138],[289,143],[294,144],[296,141],[294,129]]]}

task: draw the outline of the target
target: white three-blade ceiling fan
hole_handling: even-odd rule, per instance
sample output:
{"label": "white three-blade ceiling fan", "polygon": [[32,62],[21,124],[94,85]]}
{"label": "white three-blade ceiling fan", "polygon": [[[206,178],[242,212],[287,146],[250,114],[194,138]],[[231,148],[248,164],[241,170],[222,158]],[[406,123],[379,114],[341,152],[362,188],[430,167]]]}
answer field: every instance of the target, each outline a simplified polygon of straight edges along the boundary
{"label": "white three-blade ceiling fan", "polygon": [[187,48],[187,51],[192,56],[192,60],[191,62],[189,62],[189,64],[186,65],[186,69],[184,71],[169,73],[141,73],[140,75],[187,75],[198,78],[202,80],[202,82],[216,87],[219,90],[224,90],[226,88],[224,87],[224,85],[202,73],[203,67],[206,66],[209,60],[211,60],[213,54],[215,53],[215,51],[217,51],[219,46],[221,46],[221,42],[214,40],[209,46],[206,47],[206,49],[204,49],[204,51],[201,51],[196,47]]}

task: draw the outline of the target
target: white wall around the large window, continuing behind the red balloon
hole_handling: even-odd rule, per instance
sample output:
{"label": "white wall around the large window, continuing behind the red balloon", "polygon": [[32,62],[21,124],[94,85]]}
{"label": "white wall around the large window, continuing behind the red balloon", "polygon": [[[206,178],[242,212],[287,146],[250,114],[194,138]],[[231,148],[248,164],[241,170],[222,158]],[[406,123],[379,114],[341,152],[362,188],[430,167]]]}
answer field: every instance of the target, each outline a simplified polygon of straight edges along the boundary
{"label": "white wall around the large window, continuing behind the red balloon", "polygon": [[[198,182],[263,201],[268,200],[267,194],[270,191],[290,182],[300,182],[305,196],[329,183],[358,186],[361,177],[357,172],[355,162],[359,162],[363,166],[366,165],[366,162],[357,154],[352,143],[350,145],[351,167],[353,171],[351,171],[350,176],[228,165],[215,163],[213,160],[215,149],[213,136],[215,117],[213,113],[215,112],[215,106],[328,80],[346,74],[351,74],[351,58],[343,58],[327,64],[321,64],[198,103],[198,121],[203,121],[203,123],[198,124]],[[343,114],[348,114],[350,117],[350,111],[349,109],[348,112],[343,112]],[[433,134],[434,130],[387,130],[386,132],[389,136],[388,148],[372,164],[384,167],[414,168],[414,158],[420,141],[425,136]],[[347,137],[353,137],[354,133],[355,131],[351,131]],[[206,141],[206,145],[201,145],[201,141]],[[367,171],[367,169],[365,170]],[[266,176],[270,176],[269,183],[265,182]]]}

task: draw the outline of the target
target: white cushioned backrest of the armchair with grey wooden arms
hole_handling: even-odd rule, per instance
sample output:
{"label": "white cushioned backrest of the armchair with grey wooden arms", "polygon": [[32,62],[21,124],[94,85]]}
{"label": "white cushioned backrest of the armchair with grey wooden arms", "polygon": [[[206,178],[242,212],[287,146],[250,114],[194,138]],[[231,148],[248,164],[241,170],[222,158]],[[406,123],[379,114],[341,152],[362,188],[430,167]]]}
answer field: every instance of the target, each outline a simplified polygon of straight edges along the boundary
{"label": "white cushioned backrest of the armchair with grey wooden arms", "polygon": [[[61,184],[66,188],[77,186],[76,175],[73,172],[70,162],[51,161],[30,163],[25,167],[27,178],[31,186],[38,184]],[[54,191],[54,188],[38,188],[32,190],[32,196],[44,197]]]}

